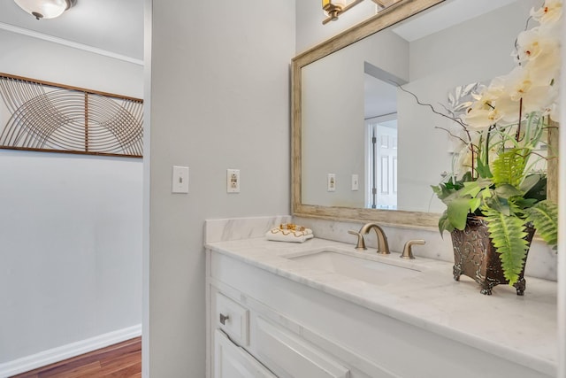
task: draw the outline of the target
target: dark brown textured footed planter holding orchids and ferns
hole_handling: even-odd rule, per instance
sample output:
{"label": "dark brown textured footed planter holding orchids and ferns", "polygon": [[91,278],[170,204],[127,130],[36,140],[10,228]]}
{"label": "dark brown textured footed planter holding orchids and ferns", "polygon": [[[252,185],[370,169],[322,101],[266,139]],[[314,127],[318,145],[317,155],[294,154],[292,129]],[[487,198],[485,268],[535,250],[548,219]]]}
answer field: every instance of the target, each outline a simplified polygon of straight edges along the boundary
{"label": "dark brown textured footed planter holding orchids and ferns", "polygon": [[[527,235],[525,240],[531,246],[532,236],[535,229],[528,227],[525,229]],[[503,275],[499,253],[495,251],[489,232],[487,222],[481,217],[469,216],[466,228],[454,230],[452,235],[452,245],[454,247],[454,279],[460,281],[460,276],[467,275],[481,285],[481,293],[492,294],[494,286],[500,283],[509,283]],[[526,265],[526,256],[524,261]],[[516,294],[522,296],[526,287],[524,280],[524,266],[519,280],[513,285]]]}

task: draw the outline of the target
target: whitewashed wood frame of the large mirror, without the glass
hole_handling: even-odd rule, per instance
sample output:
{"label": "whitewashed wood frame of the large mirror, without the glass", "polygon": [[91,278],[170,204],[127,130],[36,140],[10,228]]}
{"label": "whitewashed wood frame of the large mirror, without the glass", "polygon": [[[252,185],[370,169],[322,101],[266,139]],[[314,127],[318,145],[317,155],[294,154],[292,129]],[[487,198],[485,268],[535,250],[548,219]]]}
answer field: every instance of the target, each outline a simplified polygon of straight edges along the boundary
{"label": "whitewashed wood frame of the large mirror, without the glass", "polygon": [[[303,52],[292,60],[292,140],[291,140],[291,210],[294,216],[345,221],[376,221],[383,225],[406,228],[438,228],[440,213],[379,210],[353,207],[302,204],[302,67],[373,35],[403,19],[423,12],[445,0],[402,0],[379,14],[351,27],[340,35]],[[548,133],[549,146],[558,154],[558,131]],[[557,200],[557,159],[548,160],[547,197]]]}

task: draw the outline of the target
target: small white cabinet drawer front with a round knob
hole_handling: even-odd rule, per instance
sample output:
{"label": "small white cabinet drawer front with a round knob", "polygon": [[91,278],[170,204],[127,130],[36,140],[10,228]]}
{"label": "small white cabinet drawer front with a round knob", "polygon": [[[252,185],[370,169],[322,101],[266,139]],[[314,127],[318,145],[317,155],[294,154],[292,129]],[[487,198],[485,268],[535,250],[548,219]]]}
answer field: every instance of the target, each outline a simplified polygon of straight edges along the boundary
{"label": "small white cabinet drawer front with a round knob", "polygon": [[217,328],[241,346],[249,344],[249,310],[220,293],[216,295]]}

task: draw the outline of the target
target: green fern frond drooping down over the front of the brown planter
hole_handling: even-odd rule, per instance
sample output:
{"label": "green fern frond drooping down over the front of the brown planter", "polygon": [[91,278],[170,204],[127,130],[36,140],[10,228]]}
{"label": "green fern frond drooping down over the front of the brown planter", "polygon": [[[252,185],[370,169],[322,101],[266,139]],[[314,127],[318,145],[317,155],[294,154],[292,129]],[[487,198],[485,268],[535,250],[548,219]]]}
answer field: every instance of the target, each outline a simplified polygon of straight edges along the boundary
{"label": "green fern frond drooping down over the front of the brown planter", "polygon": [[528,243],[524,240],[524,220],[504,215],[492,209],[484,209],[489,237],[499,253],[501,267],[509,285],[517,282],[524,266]]}

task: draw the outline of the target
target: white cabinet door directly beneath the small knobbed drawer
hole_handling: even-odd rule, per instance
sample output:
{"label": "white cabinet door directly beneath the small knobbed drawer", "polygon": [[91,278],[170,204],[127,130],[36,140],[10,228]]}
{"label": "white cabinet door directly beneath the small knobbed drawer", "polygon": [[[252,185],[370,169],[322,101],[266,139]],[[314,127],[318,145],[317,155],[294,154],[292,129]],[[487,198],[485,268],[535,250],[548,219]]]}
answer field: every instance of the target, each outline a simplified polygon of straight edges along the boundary
{"label": "white cabinet door directly beneath the small knobbed drawer", "polygon": [[277,378],[219,329],[214,344],[214,378]]}

